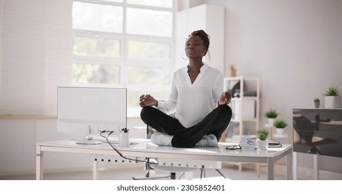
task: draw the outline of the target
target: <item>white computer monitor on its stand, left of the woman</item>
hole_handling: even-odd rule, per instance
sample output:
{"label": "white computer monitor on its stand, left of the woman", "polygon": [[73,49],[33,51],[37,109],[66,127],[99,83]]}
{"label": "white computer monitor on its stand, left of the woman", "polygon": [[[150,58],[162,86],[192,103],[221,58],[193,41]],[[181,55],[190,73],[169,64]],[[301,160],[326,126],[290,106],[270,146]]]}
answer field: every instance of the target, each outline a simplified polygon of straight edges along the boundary
{"label": "white computer monitor on its stand, left of the woman", "polygon": [[78,143],[99,144],[92,138],[102,131],[127,127],[127,89],[58,87],[58,132],[80,134]]}

